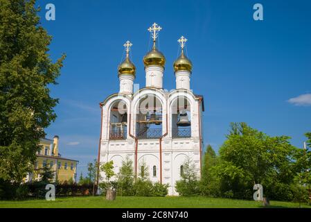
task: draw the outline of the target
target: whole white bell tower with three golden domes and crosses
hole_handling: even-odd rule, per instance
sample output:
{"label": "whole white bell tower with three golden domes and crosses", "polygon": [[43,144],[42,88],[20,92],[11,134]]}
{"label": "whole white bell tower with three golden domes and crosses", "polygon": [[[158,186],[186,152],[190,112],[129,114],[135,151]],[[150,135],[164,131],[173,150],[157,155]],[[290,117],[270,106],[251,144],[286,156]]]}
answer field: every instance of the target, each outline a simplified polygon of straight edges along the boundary
{"label": "whole white bell tower with three golden domes and crosses", "polygon": [[[168,195],[178,195],[175,182],[181,179],[188,158],[195,164],[198,177],[201,173],[204,101],[190,87],[193,65],[184,54],[184,37],[178,40],[181,55],[173,65],[176,89],[163,89],[166,58],[157,49],[160,30],[155,23],[148,29],[153,46],[143,58],[145,87],[136,92],[136,67],[129,57],[132,44],[124,44],[126,58],[118,66],[119,92],[100,103],[98,160],[100,164],[113,160],[118,173],[128,158],[135,176],[148,170],[152,182],[168,184]],[[100,175],[105,177],[103,172]]]}

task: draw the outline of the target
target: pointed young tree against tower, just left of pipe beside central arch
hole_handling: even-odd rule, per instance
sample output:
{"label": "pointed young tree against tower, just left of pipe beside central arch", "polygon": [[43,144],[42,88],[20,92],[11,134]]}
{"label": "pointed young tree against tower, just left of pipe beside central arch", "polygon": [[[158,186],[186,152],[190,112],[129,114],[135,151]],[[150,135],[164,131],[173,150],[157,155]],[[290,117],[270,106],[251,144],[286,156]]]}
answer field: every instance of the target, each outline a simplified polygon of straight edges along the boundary
{"label": "pointed young tree against tower, just left of pipe beside central arch", "polygon": [[118,195],[132,196],[134,185],[133,162],[128,157],[122,162],[122,167],[117,175]]}

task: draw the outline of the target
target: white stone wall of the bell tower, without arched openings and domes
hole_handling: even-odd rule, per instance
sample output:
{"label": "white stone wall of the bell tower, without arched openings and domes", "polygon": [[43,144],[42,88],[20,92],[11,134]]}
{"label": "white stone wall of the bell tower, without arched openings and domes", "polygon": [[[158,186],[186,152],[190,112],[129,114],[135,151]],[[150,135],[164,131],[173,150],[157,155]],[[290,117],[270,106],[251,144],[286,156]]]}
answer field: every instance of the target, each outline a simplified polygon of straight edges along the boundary
{"label": "white stone wall of the bell tower, without arched openings and domes", "polygon": [[[166,114],[168,114],[168,135],[163,137],[161,142],[162,147],[162,162],[160,163],[160,139],[139,139],[137,144],[137,171],[140,171],[141,164],[145,162],[149,170],[149,178],[152,182],[160,181],[160,167],[162,165],[162,182],[168,184],[169,195],[178,195],[175,191],[175,183],[180,180],[180,166],[187,157],[195,163],[197,176],[200,174],[200,146],[199,146],[199,113],[202,112],[202,105],[195,99],[190,90],[182,89],[173,92],[164,93],[160,89],[142,89],[138,94],[124,96],[116,94],[111,96],[103,104],[103,126],[102,139],[100,142],[100,164],[107,161],[114,161],[114,170],[118,170],[122,166],[122,161],[129,157],[135,166],[135,140],[130,137],[130,133],[135,135],[136,110],[139,100],[144,95],[155,94],[157,99],[161,101],[163,109],[162,133],[166,133]],[[185,96],[190,103],[190,121],[191,121],[191,137],[189,138],[172,138],[170,129],[172,128],[172,103],[178,96]],[[131,132],[127,130],[127,139],[124,140],[109,140],[109,119],[110,109],[115,102],[123,100],[127,104],[127,113],[130,114],[127,118],[127,129],[131,128]],[[131,117],[131,118],[130,118]],[[131,125],[130,124],[131,119]],[[201,131],[202,133],[202,131]],[[157,175],[153,176],[153,166],[157,168]],[[100,175],[104,178],[103,172]],[[115,178],[112,178],[113,180]]]}

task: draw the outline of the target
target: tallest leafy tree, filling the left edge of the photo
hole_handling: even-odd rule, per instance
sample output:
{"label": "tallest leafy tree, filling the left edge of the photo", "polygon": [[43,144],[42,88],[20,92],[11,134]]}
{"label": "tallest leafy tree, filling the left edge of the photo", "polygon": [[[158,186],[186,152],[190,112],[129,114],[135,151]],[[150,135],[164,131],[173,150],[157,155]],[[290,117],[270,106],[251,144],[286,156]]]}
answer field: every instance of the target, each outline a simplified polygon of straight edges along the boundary
{"label": "tallest leafy tree, filling the left edge of the photo", "polygon": [[39,23],[35,0],[0,0],[0,180],[21,182],[35,161],[44,128],[55,120],[56,84],[51,35]]}

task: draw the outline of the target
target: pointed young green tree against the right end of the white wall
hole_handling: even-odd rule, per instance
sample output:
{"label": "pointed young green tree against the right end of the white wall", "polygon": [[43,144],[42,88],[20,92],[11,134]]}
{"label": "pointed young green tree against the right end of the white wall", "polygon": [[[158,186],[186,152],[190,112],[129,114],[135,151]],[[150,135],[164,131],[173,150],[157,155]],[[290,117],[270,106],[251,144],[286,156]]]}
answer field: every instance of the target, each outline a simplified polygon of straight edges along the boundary
{"label": "pointed young green tree against the right end of the white wall", "polygon": [[181,180],[176,182],[176,190],[181,196],[192,196],[199,194],[199,180],[195,171],[195,163],[187,157],[184,164],[184,173]]}

